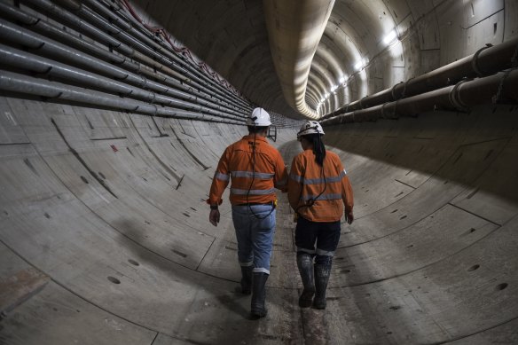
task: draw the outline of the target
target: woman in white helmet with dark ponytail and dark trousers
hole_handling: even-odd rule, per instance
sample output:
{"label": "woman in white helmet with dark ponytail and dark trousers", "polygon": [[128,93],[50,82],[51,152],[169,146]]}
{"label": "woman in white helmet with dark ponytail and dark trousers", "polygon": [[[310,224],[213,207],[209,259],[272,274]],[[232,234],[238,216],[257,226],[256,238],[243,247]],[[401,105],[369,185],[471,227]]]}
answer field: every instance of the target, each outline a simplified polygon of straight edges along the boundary
{"label": "woman in white helmet with dark ponytail and dark trousers", "polygon": [[354,219],[349,177],[338,155],[326,152],[323,136],[320,123],[302,124],[297,139],[303,151],[294,157],[288,179],[288,200],[297,219],[297,267],[304,286],[299,297],[301,308],[312,304],[313,308],[326,309],[327,282],[344,214],[342,203],[346,222]]}

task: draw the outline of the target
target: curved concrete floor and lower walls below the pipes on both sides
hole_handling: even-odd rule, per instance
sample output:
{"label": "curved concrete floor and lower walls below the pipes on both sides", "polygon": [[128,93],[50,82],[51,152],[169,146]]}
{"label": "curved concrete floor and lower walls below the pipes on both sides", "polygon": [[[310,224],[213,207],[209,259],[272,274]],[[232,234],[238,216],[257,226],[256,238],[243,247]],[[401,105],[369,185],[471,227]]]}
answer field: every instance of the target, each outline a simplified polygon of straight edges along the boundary
{"label": "curved concrete floor and lower walls below the pipes on both sides", "polygon": [[[0,114],[2,344],[518,342],[518,106],[326,128],[357,218],[328,308],[297,306],[279,193],[259,321],[226,196],[218,227],[204,202],[244,127],[6,97]],[[275,143],[286,164],[294,133]]]}

